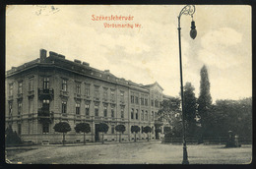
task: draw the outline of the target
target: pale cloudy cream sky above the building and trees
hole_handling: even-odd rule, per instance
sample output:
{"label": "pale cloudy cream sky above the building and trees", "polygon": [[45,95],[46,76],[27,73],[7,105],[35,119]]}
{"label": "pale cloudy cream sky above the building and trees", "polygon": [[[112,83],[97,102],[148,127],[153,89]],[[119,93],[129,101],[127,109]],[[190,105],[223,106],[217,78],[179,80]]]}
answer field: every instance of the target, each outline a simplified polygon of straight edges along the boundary
{"label": "pale cloudy cream sky above the building and trees", "polygon": [[[90,63],[137,84],[158,82],[179,96],[177,17],[184,5],[11,5],[6,10],[6,70],[39,58],[39,49]],[[183,84],[200,93],[206,65],[213,101],[252,96],[251,7],[196,5],[197,37],[191,17],[181,17]],[[131,17],[94,21],[93,15]],[[133,28],[105,28],[104,24]],[[135,26],[140,26],[135,28]]]}

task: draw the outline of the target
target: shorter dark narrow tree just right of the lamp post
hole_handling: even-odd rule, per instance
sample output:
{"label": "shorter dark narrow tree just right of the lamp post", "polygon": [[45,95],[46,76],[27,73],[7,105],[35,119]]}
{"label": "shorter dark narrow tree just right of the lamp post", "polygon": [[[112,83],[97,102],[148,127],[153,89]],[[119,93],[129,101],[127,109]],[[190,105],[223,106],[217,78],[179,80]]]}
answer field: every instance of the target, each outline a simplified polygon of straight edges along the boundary
{"label": "shorter dark narrow tree just right of the lamp post", "polygon": [[191,83],[186,83],[184,86],[184,110],[185,121],[187,124],[187,134],[193,137],[196,131],[196,111],[197,99],[194,93],[195,87]]}

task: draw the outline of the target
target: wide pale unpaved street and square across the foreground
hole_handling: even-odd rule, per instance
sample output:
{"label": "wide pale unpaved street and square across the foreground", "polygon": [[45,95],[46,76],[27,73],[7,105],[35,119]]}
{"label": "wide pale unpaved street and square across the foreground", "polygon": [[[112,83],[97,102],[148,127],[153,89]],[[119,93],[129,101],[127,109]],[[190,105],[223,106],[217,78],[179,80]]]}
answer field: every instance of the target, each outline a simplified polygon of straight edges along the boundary
{"label": "wide pale unpaved street and square across the foreground", "polygon": [[[30,149],[7,149],[12,163],[22,164],[181,164],[182,145],[160,141],[34,145]],[[188,145],[190,164],[248,164],[252,146],[225,148],[219,145]]]}

